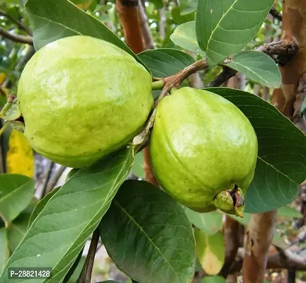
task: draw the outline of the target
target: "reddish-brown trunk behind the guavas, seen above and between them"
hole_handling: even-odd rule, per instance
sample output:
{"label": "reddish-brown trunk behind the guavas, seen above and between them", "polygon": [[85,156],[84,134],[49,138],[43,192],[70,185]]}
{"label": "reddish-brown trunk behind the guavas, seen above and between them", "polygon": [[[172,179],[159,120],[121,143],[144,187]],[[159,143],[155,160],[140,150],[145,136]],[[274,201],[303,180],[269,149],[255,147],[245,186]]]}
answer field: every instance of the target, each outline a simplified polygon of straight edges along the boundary
{"label": "reddish-brown trunk behind the guavas, seen above and between them", "polygon": [[[118,16],[123,26],[123,34],[125,42],[135,53],[145,50],[145,45],[142,40],[142,32],[140,28],[140,18],[137,10],[138,0],[116,0],[116,8]],[[154,173],[149,163],[149,148],[143,149],[144,153],[144,169],[145,180],[154,185],[158,185]]]}

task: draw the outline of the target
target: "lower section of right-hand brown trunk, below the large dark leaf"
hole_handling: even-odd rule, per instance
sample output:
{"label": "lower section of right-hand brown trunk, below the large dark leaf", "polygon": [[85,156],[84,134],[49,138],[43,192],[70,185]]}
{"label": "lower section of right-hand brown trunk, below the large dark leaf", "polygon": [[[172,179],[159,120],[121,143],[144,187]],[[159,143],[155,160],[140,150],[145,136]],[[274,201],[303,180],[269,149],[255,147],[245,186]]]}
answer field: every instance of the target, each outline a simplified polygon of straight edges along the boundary
{"label": "lower section of right-hand brown trunk, below the large dark leaf", "polygon": [[242,265],[244,283],[262,283],[266,272],[268,250],[276,224],[276,210],[251,214]]}

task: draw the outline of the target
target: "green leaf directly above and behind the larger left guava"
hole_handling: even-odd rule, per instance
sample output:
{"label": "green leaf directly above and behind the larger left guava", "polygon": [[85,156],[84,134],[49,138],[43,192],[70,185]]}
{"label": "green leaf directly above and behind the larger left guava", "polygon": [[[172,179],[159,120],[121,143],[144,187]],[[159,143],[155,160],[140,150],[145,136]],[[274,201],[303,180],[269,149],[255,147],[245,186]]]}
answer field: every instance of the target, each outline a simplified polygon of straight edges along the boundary
{"label": "green leaf directly above and behind the larger left guava", "polygon": [[128,45],[106,25],[67,0],[28,0],[26,11],[33,30],[35,50],[62,37],[89,35],[117,45],[143,64]]}

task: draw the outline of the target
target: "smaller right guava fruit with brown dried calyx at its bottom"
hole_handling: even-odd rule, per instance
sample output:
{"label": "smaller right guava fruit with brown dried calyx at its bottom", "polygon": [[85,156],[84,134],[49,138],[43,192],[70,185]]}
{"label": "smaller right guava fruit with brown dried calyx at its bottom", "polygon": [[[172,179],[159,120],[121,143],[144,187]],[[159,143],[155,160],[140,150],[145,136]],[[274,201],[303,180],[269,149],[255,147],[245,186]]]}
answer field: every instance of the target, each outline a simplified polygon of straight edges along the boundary
{"label": "smaller right guava fruit with brown dried calyx at its bottom", "polygon": [[174,91],[157,106],[149,149],[154,175],[177,202],[242,216],[258,143],[236,105],[205,90]]}

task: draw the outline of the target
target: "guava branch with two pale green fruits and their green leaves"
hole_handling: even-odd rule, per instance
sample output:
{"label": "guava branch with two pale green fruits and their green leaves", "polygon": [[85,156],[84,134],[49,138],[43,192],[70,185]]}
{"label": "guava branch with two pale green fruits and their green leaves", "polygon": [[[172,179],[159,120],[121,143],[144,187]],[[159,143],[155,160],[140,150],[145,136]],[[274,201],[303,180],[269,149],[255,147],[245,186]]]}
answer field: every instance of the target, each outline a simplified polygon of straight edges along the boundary
{"label": "guava branch with two pale green fruits and their green leaves", "polygon": [[[201,213],[243,217],[295,199],[305,134],[258,96],[216,87],[224,71],[202,90],[184,85],[196,71],[222,67],[279,87],[273,59],[246,50],[272,4],[200,0],[196,21],[171,35],[178,49],[135,54],[70,1],[26,2],[36,53],[1,117],[39,154],[73,169],[35,205],[1,283],[11,282],[11,267],[52,268],[52,277],[16,282],[69,282],[91,233],[133,282],[188,283],[196,258],[207,267],[210,238],[194,221]],[[127,180],[146,146],[159,186]],[[15,185],[33,187],[27,178]],[[0,212],[5,223],[16,217]],[[92,261],[89,252],[79,282],[89,282]]]}

